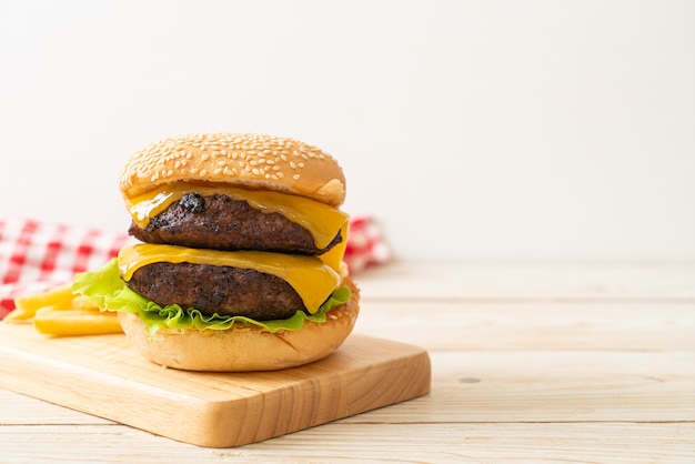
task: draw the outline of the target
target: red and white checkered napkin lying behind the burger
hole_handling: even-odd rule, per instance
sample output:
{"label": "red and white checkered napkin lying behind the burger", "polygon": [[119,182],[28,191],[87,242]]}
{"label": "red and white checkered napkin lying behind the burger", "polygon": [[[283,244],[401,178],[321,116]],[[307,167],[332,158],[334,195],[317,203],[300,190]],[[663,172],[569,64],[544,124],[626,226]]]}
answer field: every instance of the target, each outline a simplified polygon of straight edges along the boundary
{"label": "red and white checkered napkin lying behind the burger", "polygon": [[[78,272],[101,268],[125,244],[127,233],[0,219],[0,320],[14,309],[14,297],[69,283]],[[389,259],[371,218],[351,220],[345,262],[352,273]]]}

